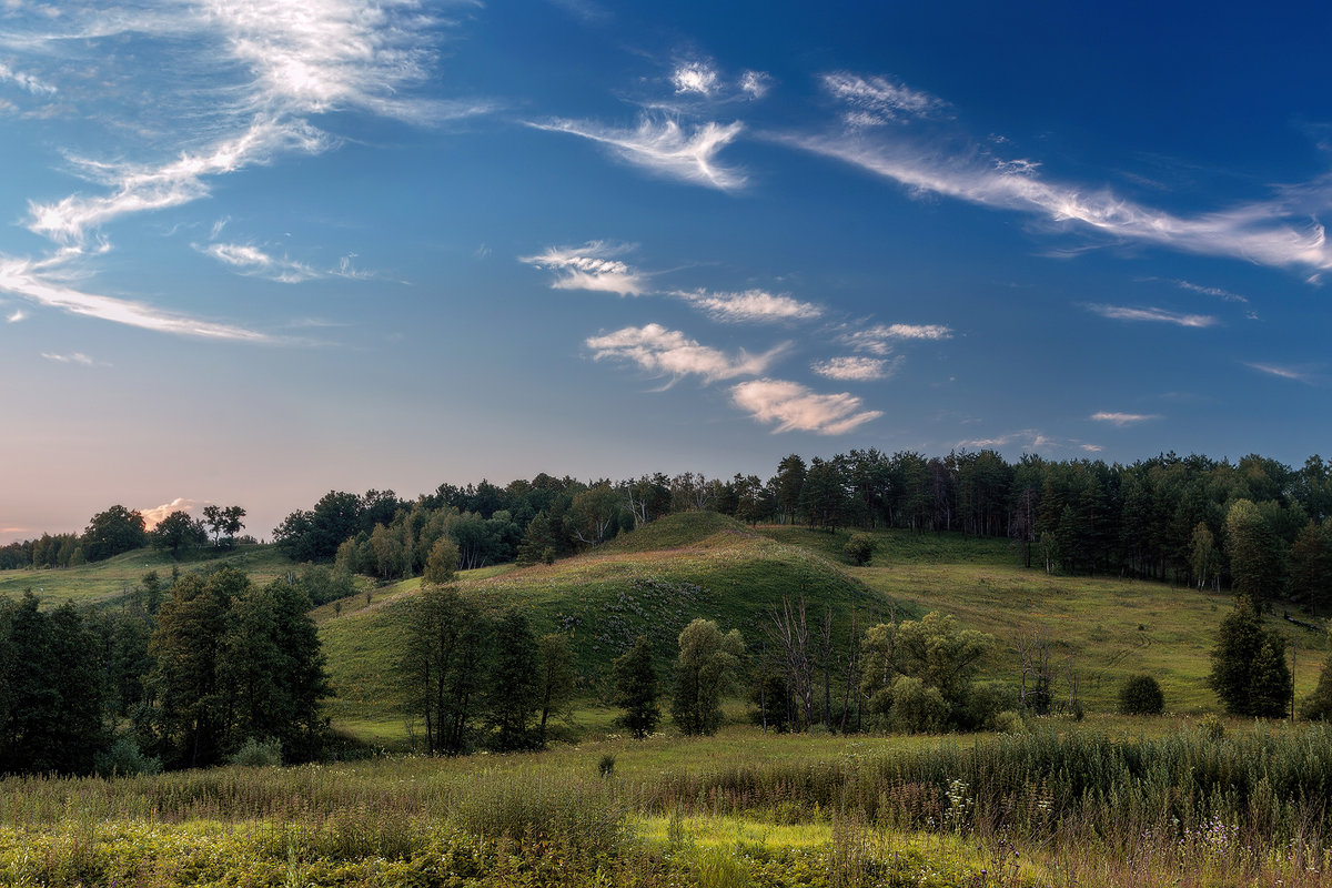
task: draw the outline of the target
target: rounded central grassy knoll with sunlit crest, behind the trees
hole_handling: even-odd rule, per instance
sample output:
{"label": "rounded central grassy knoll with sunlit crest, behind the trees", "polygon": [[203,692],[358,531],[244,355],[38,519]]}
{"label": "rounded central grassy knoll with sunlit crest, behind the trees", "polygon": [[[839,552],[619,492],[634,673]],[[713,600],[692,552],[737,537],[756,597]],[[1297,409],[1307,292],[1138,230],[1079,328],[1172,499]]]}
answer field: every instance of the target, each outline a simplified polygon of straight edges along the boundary
{"label": "rounded central grassy knoll with sunlit crest, behind the trees", "polygon": [[[690,620],[715,619],[758,644],[783,598],[805,596],[811,626],[831,608],[839,650],[848,643],[850,614],[860,627],[886,619],[883,595],[818,553],[789,546],[709,513],[671,515],[593,553],[554,564],[507,571],[468,571],[458,587],[496,611],[522,608],[538,632],[563,631],[578,659],[583,694],[594,696],[610,662],[639,635],[649,635],[659,662],[674,655]],[[420,580],[408,580],[317,611],[320,635],[338,699],[334,719],[376,739],[401,736],[400,688],[393,675],[405,632],[408,602]],[[374,727],[377,726],[377,727]]]}

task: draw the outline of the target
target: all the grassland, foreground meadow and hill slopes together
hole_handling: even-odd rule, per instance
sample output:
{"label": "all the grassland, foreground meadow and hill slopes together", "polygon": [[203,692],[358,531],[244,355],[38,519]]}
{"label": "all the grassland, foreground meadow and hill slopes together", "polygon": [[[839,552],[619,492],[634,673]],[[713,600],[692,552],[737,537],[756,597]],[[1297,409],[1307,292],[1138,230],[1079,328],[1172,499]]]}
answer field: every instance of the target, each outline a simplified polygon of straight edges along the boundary
{"label": "all the grassland, foreground meadow and hill slopes together", "polygon": [[[429,759],[398,704],[396,651],[420,579],[316,608],[353,760],[160,776],[0,781],[5,885],[1082,885],[1332,884],[1332,732],[1217,718],[1208,651],[1228,595],[1022,567],[1006,541],[663,519],[554,564],[486,567],[457,583],[488,608],[565,631],[581,672],[566,740],[541,754]],[[221,558],[260,580],[270,549]],[[115,606],[159,553],[64,571],[0,572],[0,594]],[[838,646],[878,620],[954,614],[995,636],[982,678],[1014,680],[1019,635],[1072,667],[1086,718],[1012,734],[765,734],[733,699],[714,738],[619,736],[605,667],[641,632],[662,662],[694,616],[754,644],[774,606],[831,608]],[[1267,616],[1312,691],[1321,632]],[[1167,715],[1114,715],[1151,672]],[[1063,674],[1063,672],[1059,672]]]}

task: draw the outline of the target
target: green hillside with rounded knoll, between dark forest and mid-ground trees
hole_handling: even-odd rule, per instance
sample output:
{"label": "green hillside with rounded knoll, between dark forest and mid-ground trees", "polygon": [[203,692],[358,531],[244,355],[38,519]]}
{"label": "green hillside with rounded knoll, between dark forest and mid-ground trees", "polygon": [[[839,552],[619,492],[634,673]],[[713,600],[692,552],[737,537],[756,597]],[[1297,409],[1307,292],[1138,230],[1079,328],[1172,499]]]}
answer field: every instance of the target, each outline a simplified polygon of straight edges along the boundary
{"label": "green hillside with rounded knoll, between dark forest and mid-ground trees", "polygon": [[[641,632],[655,639],[662,663],[674,654],[675,635],[695,616],[739,628],[754,646],[773,606],[803,591],[811,620],[822,618],[825,606],[832,608],[839,650],[852,608],[862,630],[887,619],[894,607],[899,618],[938,610],[995,636],[982,678],[1016,683],[1016,642],[1023,635],[1048,643],[1056,695],[1067,696],[1072,667],[1087,711],[1112,711],[1119,686],[1138,672],[1158,678],[1168,711],[1219,711],[1205,679],[1216,627],[1231,607],[1228,594],[1048,575],[1023,567],[1002,539],[875,535],[879,549],[871,563],[851,567],[840,555],[848,531],[753,530],[721,515],[693,513],[663,518],[553,566],[465,572],[460,587],[496,610],[526,608],[538,631],[567,631],[589,698],[609,662]],[[364,599],[346,602],[341,616],[334,618],[332,606],[317,612],[340,695],[330,711],[353,734],[381,742],[405,736],[392,651],[402,639],[404,604],[418,588],[420,580],[408,580],[380,590],[369,606]],[[1296,690],[1303,696],[1317,682],[1327,640],[1280,615],[1277,610],[1267,620],[1297,650]],[[742,707],[733,711],[738,715]]]}

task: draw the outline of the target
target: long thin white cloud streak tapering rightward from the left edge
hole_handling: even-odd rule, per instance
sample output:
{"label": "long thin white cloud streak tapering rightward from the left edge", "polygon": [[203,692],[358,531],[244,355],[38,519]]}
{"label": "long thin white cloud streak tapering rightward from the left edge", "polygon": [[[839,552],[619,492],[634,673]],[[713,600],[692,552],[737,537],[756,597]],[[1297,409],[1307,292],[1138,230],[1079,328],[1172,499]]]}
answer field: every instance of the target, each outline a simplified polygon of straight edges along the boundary
{"label": "long thin white cloud streak tapering rightward from the left edge", "polygon": [[198,321],[161,312],[141,302],[117,300],[109,296],[80,293],[67,286],[45,281],[32,273],[29,262],[0,261],[0,290],[28,298],[39,305],[60,309],[69,314],[127,324],[129,326],[173,333],[177,335],[204,339],[229,339],[238,342],[273,342],[264,333],[245,328]]}

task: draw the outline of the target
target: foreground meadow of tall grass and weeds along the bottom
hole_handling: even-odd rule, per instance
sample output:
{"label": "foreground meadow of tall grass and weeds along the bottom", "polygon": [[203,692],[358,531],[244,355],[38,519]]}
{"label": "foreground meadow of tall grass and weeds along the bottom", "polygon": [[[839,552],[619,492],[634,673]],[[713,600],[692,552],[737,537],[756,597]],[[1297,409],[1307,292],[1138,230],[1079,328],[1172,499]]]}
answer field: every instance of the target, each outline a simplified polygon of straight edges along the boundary
{"label": "foreground meadow of tall grass and weeds along the bottom", "polygon": [[0,883],[1332,884],[1332,732],[1142,724],[942,739],[729,728],[514,756],[8,779]]}

